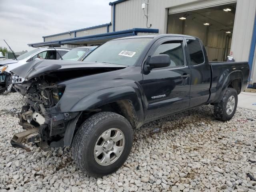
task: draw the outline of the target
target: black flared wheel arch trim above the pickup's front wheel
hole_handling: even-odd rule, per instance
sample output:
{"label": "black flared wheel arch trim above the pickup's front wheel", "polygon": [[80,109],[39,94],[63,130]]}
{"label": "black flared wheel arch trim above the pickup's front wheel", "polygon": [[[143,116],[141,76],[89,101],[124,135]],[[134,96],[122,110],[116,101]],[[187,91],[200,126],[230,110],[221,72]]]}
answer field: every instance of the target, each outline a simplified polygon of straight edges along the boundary
{"label": "black flared wheel arch trim above the pickup's front wheel", "polygon": [[130,86],[113,87],[94,92],[78,101],[70,111],[86,111],[120,100],[130,100],[132,102],[139,122],[138,126],[141,126],[144,121],[142,96],[138,88]]}

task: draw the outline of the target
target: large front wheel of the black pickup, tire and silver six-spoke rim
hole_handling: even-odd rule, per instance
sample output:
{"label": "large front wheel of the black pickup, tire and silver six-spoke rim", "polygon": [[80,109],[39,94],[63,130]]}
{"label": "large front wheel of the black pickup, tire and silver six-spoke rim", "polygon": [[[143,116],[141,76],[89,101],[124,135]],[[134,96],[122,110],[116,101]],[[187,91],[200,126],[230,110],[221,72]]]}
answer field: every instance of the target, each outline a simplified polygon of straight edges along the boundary
{"label": "large front wheel of the black pickup, tire and silver six-spoke rim", "polygon": [[[104,139],[108,136],[111,136],[111,140]],[[119,137],[122,139],[116,141]],[[126,118],[113,112],[100,112],[85,120],[76,132],[72,144],[73,159],[85,174],[102,177],[115,172],[124,164],[132,149],[132,142],[132,126]],[[98,146],[106,146],[105,150],[110,150],[98,153],[95,150]],[[122,152],[119,151],[120,148]],[[105,155],[106,158],[109,155],[113,162],[104,162]]]}

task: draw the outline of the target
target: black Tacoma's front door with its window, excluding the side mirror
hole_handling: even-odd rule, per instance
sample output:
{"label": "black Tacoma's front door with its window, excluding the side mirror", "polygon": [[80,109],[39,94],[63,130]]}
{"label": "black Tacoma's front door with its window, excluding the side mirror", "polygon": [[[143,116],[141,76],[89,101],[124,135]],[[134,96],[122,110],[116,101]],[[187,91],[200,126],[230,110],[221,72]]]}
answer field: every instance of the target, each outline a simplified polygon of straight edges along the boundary
{"label": "black Tacoma's front door with its window, excluding the side mirror", "polygon": [[183,38],[158,40],[150,56],[168,54],[171,64],[143,74],[145,122],[189,108],[190,68]]}

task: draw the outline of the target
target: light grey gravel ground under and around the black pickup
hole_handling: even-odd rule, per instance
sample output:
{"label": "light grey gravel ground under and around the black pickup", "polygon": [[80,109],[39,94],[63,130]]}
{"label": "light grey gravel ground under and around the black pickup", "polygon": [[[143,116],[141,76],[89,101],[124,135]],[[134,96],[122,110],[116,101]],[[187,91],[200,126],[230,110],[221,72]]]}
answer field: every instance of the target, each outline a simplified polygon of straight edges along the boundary
{"label": "light grey gravel ground under and around the black pickup", "polygon": [[92,178],[76,168],[70,148],[26,152],[10,145],[22,129],[15,114],[1,110],[20,110],[23,103],[18,93],[0,95],[1,192],[256,191],[247,176],[256,178],[256,111],[238,108],[232,120],[220,122],[208,105],[145,124],[134,131],[122,168]]}

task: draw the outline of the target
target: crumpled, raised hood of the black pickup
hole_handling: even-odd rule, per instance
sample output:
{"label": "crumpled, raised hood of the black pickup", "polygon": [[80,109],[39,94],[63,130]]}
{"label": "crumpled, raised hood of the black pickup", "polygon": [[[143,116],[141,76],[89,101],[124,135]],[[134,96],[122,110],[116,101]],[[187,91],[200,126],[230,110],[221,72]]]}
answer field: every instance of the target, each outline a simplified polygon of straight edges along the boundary
{"label": "crumpled, raised hood of the black pickup", "polygon": [[78,69],[96,69],[96,68],[125,68],[124,65],[98,63],[98,62],[81,62],[81,61],[66,61],[66,60],[34,60],[13,70],[12,73],[30,80],[35,77],[50,74],[55,71],[72,71]]}

